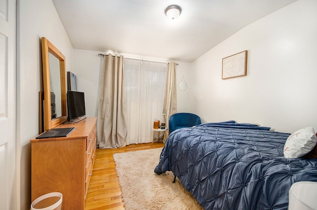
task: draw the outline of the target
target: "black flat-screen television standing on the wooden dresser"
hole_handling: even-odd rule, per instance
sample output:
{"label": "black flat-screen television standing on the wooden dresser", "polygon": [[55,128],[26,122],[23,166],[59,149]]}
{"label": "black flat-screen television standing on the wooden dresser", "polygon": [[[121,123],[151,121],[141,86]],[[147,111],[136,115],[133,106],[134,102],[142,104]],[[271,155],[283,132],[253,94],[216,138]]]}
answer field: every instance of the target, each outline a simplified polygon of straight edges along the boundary
{"label": "black flat-screen television standing on the wooden dresser", "polygon": [[[86,117],[84,92],[67,91],[67,120],[78,123]],[[84,117],[84,118],[82,118]]]}

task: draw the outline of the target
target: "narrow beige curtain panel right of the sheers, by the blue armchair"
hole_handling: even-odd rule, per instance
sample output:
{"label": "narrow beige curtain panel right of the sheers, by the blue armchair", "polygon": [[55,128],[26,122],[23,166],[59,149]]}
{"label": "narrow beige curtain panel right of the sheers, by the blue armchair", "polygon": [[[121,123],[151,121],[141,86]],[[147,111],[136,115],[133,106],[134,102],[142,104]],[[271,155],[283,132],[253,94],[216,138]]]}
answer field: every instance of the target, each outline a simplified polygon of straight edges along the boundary
{"label": "narrow beige curtain panel right of the sheers, by the blue armchair", "polygon": [[163,122],[165,122],[167,128],[169,117],[177,113],[176,65],[175,62],[169,62],[167,69],[163,103]]}

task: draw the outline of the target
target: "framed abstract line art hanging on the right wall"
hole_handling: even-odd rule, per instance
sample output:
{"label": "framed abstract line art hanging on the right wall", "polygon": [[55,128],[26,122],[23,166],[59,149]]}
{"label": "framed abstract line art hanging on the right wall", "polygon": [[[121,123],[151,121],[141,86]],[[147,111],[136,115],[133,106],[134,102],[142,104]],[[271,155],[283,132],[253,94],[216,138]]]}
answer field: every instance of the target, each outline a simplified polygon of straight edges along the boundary
{"label": "framed abstract line art hanging on the right wall", "polygon": [[222,80],[247,75],[248,50],[222,58]]}

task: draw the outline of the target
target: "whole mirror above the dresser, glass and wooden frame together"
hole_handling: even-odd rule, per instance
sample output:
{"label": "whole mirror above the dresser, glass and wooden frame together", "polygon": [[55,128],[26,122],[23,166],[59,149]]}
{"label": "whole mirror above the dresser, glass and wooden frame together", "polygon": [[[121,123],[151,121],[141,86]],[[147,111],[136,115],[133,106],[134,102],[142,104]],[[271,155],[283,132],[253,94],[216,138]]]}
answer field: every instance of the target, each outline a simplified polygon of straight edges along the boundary
{"label": "whole mirror above the dresser, glass and wooden frame together", "polygon": [[65,56],[45,37],[42,38],[42,63],[46,131],[67,121],[67,116]]}

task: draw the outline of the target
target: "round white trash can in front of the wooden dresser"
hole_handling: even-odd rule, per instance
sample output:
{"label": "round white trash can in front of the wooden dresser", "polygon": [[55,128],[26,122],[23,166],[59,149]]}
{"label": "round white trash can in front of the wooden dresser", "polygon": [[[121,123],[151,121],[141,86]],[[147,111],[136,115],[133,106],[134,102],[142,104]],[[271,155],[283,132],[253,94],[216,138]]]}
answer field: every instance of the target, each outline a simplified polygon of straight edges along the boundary
{"label": "round white trash can in front of the wooden dresser", "polygon": [[31,210],[61,210],[62,201],[61,193],[48,193],[35,199],[31,204]]}

